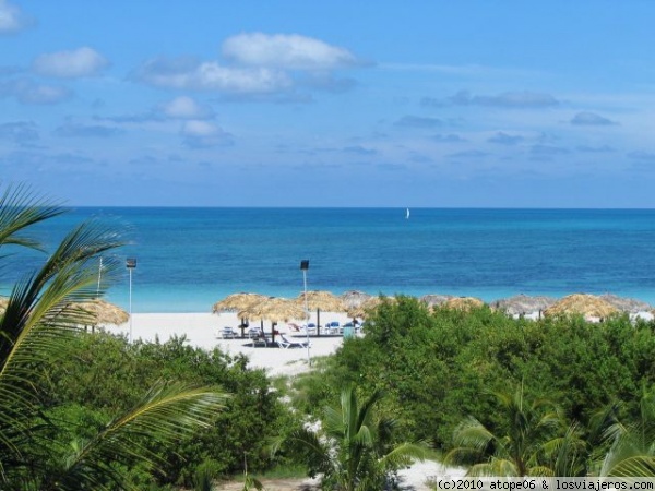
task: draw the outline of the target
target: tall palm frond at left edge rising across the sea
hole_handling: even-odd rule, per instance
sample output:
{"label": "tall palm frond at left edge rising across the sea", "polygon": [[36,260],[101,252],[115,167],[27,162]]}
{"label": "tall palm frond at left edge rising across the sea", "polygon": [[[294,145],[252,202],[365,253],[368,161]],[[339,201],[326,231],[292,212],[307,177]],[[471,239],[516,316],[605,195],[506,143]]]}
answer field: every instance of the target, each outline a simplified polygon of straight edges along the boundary
{"label": "tall palm frond at left edge rising across the sea", "polygon": [[[38,221],[33,215],[45,219],[55,214],[53,211],[45,216],[39,211],[31,214],[17,203],[9,211],[0,207],[1,227],[12,230],[11,233],[0,231],[0,246],[24,246],[11,239],[21,231],[19,225],[8,223],[13,213],[23,217],[22,226]],[[78,331],[80,320],[79,313],[61,306],[95,294],[97,275],[90,263],[98,252],[121,243],[116,233],[96,224],[80,226],[64,238],[40,268],[26,275],[12,289],[0,315],[0,482],[10,482],[16,474],[22,474],[21,469],[33,467],[34,450],[39,445],[31,441],[46,433],[48,424],[40,417],[38,387],[47,378],[48,367],[70,351],[68,342]],[[115,267],[111,261],[107,263],[107,277],[111,278]],[[36,458],[37,463],[41,460]]]}

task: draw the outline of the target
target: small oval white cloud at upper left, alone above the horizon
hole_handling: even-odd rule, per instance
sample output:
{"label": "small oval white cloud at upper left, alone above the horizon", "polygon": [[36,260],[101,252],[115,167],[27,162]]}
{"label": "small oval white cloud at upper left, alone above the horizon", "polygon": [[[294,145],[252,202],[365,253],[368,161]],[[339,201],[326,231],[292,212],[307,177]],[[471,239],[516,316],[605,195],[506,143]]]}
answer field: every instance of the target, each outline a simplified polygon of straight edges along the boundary
{"label": "small oval white cloud at upper left, alone above the horizon", "polygon": [[82,47],[72,51],[58,51],[37,57],[32,68],[39,75],[72,79],[97,75],[108,61],[96,50]]}

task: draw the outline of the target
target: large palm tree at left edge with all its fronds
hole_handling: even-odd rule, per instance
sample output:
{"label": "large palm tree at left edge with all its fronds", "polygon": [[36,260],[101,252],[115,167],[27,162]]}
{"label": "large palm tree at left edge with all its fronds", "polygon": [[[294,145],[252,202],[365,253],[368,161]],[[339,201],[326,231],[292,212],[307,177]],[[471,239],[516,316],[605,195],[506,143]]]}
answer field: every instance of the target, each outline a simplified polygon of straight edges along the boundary
{"label": "large palm tree at left edge with all its fronds", "polygon": [[[0,259],[5,247],[44,248],[31,237],[33,225],[59,216],[63,208],[25,187],[9,188],[0,197]],[[110,252],[119,236],[91,221],[68,233],[34,272],[14,285],[0,313],[0,488],[7,490],[109,489],[127,484],[116,463],[154,465],[148,442],[170,444],[177,436],[206,426],[224,402],[211,388],[162,383],[144,399],[84,442],[52,441],[56,422],[44,416],[39,386],[48,368],[70,354],[88,313],[71,302],[97,295],[96,264],[105,259],[106,287],[118,272]],[[0,270],[2,272],[2,270]],[[53,462],[49,450],[69,451]]]}

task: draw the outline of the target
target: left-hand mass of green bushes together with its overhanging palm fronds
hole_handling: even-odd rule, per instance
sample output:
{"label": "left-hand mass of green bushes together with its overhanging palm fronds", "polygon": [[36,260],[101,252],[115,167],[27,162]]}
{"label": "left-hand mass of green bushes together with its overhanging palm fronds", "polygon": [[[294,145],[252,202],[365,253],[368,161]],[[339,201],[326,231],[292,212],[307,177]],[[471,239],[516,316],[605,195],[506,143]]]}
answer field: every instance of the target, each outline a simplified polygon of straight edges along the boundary
{"label": "left-hand mass of green bushes together with its overhanging palm fronds", "polygon": [[[22,187],[0,196],[0,266],[41,251],[34,225],[63,213]],[[17,280],[0,310],[0,489],[147,489],[264,467],[284,407],[245,359],[88,335],[79,302],[116,277],[115,230],[78,226]],[[12,249],[13,248],[13,249]],[[105,275],[98,285],[97,262]],[[8,271],[8,270],[0,270]],[[229,397],[223,391],[229,391]],[[288,419],[288,418],[287,418]]]}

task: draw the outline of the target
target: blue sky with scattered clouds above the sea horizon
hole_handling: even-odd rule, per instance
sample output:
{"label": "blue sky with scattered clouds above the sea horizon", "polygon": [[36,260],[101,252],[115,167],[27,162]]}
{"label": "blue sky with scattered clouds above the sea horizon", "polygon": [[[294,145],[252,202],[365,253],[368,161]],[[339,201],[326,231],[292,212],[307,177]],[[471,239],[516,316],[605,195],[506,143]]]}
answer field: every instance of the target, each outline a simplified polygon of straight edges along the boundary
{"label": "blue sky with scattered clouds above the sea horizon", "polygon": [[650,0],[0,0],[0,183],[74,206],[655,207]]}

